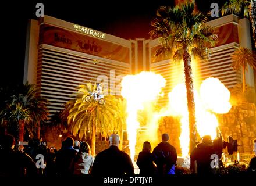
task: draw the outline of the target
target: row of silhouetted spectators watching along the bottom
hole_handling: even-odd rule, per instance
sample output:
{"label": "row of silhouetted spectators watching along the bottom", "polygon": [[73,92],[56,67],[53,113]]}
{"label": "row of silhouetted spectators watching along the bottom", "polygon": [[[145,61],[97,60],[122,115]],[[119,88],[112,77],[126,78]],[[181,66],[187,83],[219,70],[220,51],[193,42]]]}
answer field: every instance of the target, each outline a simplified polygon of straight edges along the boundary
{"label": "row of silhouetted spectators watching along the bottom", "polygon": [[[153,151],[149,141],[143,143],[142,151],[138,154],[136,162],[140,169],[140,175],[175,174],[177,152],[176,148],[168,141],[169,135],[162,134],[162,142]],[[67,137],[62,141],[62,147],[59,150],[48,148],[46,142],[37,138],[29,141],[23,151],[17,151],[15,138],[6,134],[0,140],[0,175],[72,176],[92,174],[95,176],[122,176],[126,174],[132,176],[134,175],[133,161],[127,153],[118,148],[119,142],[119,135],[112,134],[109,137],[109,148],[99,152],[94,159],[91,155],[90,145],[86,141],[74,141],[72,137]],[[216,174],[216,171],[212,171],[210,166],[211,158],[209,156],[212,153],[214,152],[211,147],[211,137],[205,136],[190,155],[191,162],[197,163],[195,173]],[[256,156],[251,159],[246,173],[248,175],[256,174]]]}

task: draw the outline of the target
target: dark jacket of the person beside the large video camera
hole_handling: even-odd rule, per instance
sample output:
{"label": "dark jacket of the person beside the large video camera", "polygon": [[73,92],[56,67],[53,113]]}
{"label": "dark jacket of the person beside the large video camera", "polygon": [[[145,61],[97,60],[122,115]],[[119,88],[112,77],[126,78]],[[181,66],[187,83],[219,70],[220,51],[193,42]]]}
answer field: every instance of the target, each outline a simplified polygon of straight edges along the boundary
{"label": "dark jacket of the person beside the large video camera", "polygon": [[198,144],[191,152],[191,162],[197,161],[197,174],[214,174],[214,169],[211,168],[211,155],[215,154],[212,144]]}

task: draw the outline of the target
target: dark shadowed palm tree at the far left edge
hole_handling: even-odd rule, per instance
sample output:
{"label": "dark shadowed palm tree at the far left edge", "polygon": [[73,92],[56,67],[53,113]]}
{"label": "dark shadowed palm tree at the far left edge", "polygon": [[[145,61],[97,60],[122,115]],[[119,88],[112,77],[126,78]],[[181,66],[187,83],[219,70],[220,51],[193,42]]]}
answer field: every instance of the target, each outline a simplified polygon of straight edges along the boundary
{"label": "dark shadowed palm tree at the far left edge", "polygon": [[[37,133],[39,137],[40,124],[48,120],[48,101],[41,96],[40,89],[35,84],[26,83],[20,87],[19,93],[10,96],[6,107],[0,112],[1,123],[7,122],[19,130],[19,141],[23,141],[24,130],[31,137]],[[14,126],[13,126],[14,125]]]}

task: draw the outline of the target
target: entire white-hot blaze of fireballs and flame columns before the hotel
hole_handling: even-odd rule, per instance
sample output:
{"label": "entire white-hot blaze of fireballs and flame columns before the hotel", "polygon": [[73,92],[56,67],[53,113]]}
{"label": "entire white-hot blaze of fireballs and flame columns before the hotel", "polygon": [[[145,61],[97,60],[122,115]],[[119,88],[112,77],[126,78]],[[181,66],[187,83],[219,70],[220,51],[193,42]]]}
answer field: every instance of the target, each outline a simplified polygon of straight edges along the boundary
{"label": "entire white-hot blaze of fireballs and flame columns before the hotel", "polygon": [[[179,73],[179,77],[182,75]],[[184,80],[184,76],[182,78]],[[182,78],[178,79],[179,82],[184,82]],[[127,101],[126,123],[131,159],[134,159],[136,154],[137,130],[140,128],[137,116],[139,110],[144,110],[147,113],[147,130],[145,133],[148,135],[151,145],[158,141],[159,119],[163,116],[178,117],[182,129],[179,137],[182,157],[188,157],[190,138],[186,86],[182,83],[176,84],[168,94],[167,106],[156,111],[154,110],[154,103],[157,102],[162,88],[165,87],[165,78],[159,74],[143,71],[137,75],[125,76],[121,84],[121,94]],[[195,87],[197,87],[194,90],[197,132],[200,137],[211,135],[214,139],[218,128],[218,119],[215,114],[229,112],[231,108],[230,92],[218,78],[213,77],[205,79],[201,85],[196,81]],[[152,147],[154,148],[153,145]]]}

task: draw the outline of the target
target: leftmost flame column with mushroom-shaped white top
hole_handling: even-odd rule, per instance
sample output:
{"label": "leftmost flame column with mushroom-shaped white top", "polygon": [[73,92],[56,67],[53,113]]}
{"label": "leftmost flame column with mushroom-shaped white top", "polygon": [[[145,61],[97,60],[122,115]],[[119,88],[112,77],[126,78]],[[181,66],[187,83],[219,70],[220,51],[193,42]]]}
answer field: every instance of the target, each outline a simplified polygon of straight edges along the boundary
{"label": "leftmost flame column with mushroom-shaped white top", "polygon": [[137,129],[140,123],[137,121],[138,110],[144,109],[144,104],[154,102],[165,87],[166,80],[159,74],[141,72],[136,75],[127,75],[121,82],[121,95],[127,101],[127,135],[129,140],[130,157],[134,159]]}

